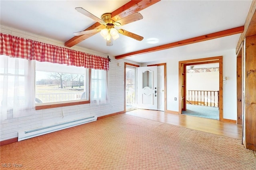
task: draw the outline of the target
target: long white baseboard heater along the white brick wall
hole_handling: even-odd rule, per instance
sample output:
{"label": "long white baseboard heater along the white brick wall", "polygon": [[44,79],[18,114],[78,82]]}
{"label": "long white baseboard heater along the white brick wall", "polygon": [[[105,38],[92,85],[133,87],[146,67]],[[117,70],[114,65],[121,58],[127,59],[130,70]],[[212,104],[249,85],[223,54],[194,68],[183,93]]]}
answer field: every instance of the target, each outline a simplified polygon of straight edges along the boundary
{"label": "long white baseboard heater along the white brick wall", "polygon": [[78,120],[74,120],[74,121],[70,121],[70,122],[60,123],[60,124],[56,124],[56,125],[52,125],[52,126],[48,126],[48,127],[42,127],[42,128],[37,128],[37,129],[33,129],[33,130],[28,130],[28,131],[20,131],[20,132],[18,132],[18,141],[25,140],[28,138],[33,138],[33,137],[47,134],[50,132],[56,132],[58,130],[62,130],[62,129],[69,128],[69,127],[74,127],[77,125],[82,125],[84,123],[89,123],[89,122],[96,121],[96,120],[97,120],[97,117],[92,116],[92,117],[87,117],[87,118],[78,119]]}

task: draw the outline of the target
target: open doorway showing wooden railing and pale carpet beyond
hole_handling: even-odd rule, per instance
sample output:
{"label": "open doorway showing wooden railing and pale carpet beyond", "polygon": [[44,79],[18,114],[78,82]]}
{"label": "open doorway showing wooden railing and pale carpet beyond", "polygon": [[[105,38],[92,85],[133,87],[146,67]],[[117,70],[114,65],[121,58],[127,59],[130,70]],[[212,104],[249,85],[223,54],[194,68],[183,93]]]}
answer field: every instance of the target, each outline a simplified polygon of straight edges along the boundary
{"label": "open doorway showing wooden railing and pale carpet beyond", "polygon": [[186,65],[186,110],[182,114],[219,120],[219,63]]}

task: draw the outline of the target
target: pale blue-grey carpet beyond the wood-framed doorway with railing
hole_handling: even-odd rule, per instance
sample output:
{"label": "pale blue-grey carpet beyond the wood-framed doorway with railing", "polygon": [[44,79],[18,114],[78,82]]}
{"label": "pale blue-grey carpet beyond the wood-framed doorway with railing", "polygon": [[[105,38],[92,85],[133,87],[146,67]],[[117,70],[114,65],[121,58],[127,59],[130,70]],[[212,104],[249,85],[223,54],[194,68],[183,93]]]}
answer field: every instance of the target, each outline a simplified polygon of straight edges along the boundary
{"label": "pale blue-grey carpet beyond the wood-framed doorway with railing", "polygon": [[186,111],[182,111],[183,115],[190,115],[196,117],[204,117],[208,119],[219,120],[219,108],[199,105],[186,104]]}

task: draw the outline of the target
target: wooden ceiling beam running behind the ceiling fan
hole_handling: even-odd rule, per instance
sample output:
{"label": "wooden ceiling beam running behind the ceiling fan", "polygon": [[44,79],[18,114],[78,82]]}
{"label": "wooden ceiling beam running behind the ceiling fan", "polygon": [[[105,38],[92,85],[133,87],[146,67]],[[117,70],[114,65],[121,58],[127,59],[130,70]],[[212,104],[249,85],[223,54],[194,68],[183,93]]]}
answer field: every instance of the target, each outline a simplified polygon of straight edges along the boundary
{"label": "wooden ceiling beam running behind the ceiling fan", "polygon": [[[114,10],[113,12],[111,12],[111,18],[112,18],[112,20],[115,20],[115,21],[119,20],[121,18],[124,18],[124,17],[130,15],[130,14],[133,14],[135,12],[139,12],[145,8],[148,8],[149,6],[155,4],[156,2],[159,2],[159,1],[160,0],[131,0],[128,3],[124,4],[123,6],[121,6],[120,8],[118,8],[117,10]],[[92,26],[86,28],[84,31],[92,30],[92,29],[96,29],[96,28],[103,29],[103,28],[105,28],[105,26],[96,22]],[[71,38],[70,40],[65,42],[65,46],[72,47],[97,33],[98,32],[94,32],[89,35],[74,36],[73,38]]]}

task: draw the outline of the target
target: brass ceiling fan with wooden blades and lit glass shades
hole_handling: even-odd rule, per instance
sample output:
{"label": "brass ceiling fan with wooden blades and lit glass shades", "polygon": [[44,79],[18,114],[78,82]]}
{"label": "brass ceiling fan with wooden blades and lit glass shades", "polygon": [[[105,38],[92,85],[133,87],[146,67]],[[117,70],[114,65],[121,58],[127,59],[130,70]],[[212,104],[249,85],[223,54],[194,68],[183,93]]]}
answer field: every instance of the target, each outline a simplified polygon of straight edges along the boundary
{"label": "brass ceiling fan with wooden blades and lit glass shades", "polygon": [[128,36],[130,38],[134,38],[135,40],[141,41],[143,40],[142,36],[139,36],[137,34],[134,34],[132,32],[128,32],[126,30],[123,29],[119,29],[116,30],[116,28],[114,28],[115,26],[124,26],[125,24],[129,24],[131,22],[134,21],[138,21],[141,20],[143,18],[143,16],[136,12],[133,13],[129,16],[126,16],[124,18],[121,18],[120,20],[114,21],[111,19],[111,13],[105,13],[101,16],[101,19],[94,16],[93,14],[91,14],[90,12],[86,11],[84,8],[81,7],[77,7],[75,8],[78,12],[80,12],[81,14],[84,14],[85,16],[88,16],[89,18],[93,19],[96,22],[99,22],[100,24],[106,26],[104,29],[101,28],[96,28],[96,29],[92,29],[92,30],[85,30],[85,31],[81,31],[81,32],[75,32],[74,35],[75,36],[81,36],[84,34],[91,34],[94,32],[100,32],[100,35],[107,41],[107,46],[111,46],[113,45],[113,40],[116,40],[117,38],[119,38],[119,34],[122,34],[124,36]]}

